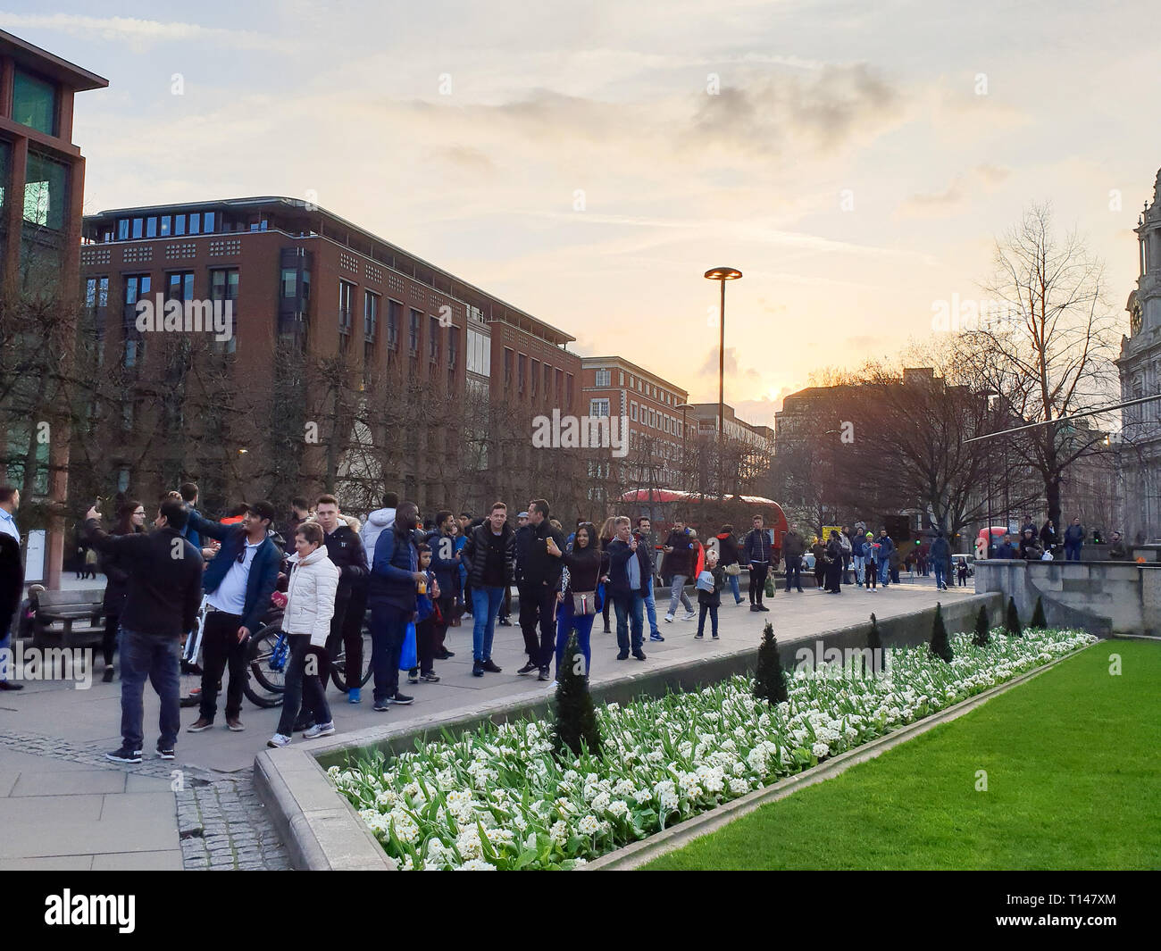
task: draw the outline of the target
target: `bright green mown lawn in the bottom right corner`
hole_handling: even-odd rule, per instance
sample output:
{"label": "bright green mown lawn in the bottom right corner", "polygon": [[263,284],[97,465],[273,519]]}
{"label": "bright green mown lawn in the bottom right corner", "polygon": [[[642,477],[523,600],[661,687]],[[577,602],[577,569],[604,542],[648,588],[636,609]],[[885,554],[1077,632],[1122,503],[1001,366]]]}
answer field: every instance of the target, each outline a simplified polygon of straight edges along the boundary
{"label": "bright green mown lawn in the bottom right corner", "polygon": [[646,867],[1161,867],[1159,693],[1161,644],[1101,641]]}

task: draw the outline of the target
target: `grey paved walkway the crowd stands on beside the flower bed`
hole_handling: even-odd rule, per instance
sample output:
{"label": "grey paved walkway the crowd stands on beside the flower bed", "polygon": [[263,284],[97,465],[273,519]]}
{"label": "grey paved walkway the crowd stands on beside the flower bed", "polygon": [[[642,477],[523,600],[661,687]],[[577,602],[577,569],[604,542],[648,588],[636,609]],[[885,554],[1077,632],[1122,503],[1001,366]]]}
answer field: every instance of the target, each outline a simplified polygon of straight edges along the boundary
{"label": "grey paved walkway the crowd stands on beside the flower bed", "polygon": [[[664,624],[668,601],[663,600],[657,613],[666,640],[646,641],[644,664],[676,665],[752,649],[767,620],[780,642],[809,640],[864,621],[872,611],[887,619],[972,595],[971,588],[936,591],[932,584],[922,583],[877,592],[844,588],[841,596],[779,590],[767,601],[770,612],[753,613],[748,605],[734,606],[727,590],[719,610],[720,641],[709,640],[708,631],[706,640],[695,641],[695,621]],[[592,636],[593,679],[615,680],[640,670],[639,661],[614,660],[615,635],[603,634],[601,627],[598,617]],[[402,686],[416,697],[413,706],[375,713],[369,684],[359,705],[346,703],[344,694],[329,687],[338,729],[395,726],[474,701],[514,699],[549,689],[515,673],[525,658],[517,626],[496,628],[492,656],[503,673],[471,676],[470,618],[448,631],[447,644],[455,657],[437,662],[440,683],[408,686],[404,677]],[[167,762],[151,758],[158,703],[146,687],[146,758],[140,765],[121,766],[103,758],[121,744],[121,684],[102,684],[99,661],[96,668],[88,690],[49,680],[28,682],[20,692],[0,694],[0,869],[178,869],[182,857],[185,867],[287,867],[284,850],[251,783],[254,756],[274,733],[281,709],[258,709],[245,701],[246,730],[239,734],[225,729],[219,708],[217,728],[179,734],[178,758]],[[197,711],[182,714],[188,726]],[[295,742],[301,741],[295,737]]]}

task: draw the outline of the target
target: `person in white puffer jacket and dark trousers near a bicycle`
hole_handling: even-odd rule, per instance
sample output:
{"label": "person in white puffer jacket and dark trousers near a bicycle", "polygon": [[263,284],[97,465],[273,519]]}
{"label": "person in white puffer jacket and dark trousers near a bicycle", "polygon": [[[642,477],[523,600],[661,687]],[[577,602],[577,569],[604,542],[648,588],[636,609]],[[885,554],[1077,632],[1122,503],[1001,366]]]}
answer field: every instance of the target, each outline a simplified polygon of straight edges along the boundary
{"label": "person in white puffer jacket and dark trousers near a bicycle", "polygon": [[315,720],[315,726],[303,734],[307,740],[334,733],[324,685],[327,676],[326,639],[334,615],[339,569],[326,557],[323,539],[323,528],[318,523],[304,521],[295,529],[296,554],[290,559],[293,568],[282,613],[282,629],[290,639],[290,660],[287,663],[282,718],[277,733],[266,742],[268,747],[284,747],[290,742],[300,706],[305,706]]}

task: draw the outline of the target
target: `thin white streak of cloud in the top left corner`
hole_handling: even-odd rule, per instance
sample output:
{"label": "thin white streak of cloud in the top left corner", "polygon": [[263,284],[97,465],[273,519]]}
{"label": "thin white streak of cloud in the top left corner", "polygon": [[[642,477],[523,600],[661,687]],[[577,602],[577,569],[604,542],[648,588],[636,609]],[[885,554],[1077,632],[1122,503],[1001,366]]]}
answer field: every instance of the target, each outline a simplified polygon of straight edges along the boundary
{"label": "thin white streak of cloud in the top left corner", "polygon": [[57,30],[73,36],[106,41],[130,41],[135,45],[150,43],[212,43],[239,50],[290,52],[297,44],[286,37],[253,30],[202,27],[199,23],[140,20],[132,16],[81,16],[73,13],[21,14],[0,12],[0,27],[13,29]]}

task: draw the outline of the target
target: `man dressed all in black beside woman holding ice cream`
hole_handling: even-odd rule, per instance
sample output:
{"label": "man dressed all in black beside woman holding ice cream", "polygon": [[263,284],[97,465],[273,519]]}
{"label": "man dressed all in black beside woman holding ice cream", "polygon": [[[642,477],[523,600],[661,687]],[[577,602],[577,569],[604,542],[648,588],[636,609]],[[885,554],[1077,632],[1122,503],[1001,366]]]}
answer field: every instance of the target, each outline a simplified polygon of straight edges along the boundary
{"label": "man dressed all in black beside woman holding ice cream", "polygon": [[[548,554],[547,540],[564,550],[564,535],[548,523],[548,503],[528,503],[528,524],[515,533],[515,561],[519,570],[520,629],[528,662],[517,673],[540,671],[541,680],[553,679],[549,667],[556,647],[556,591],[561,583],[561,560]],[[536,625],[540,640],[536,640]]]}

